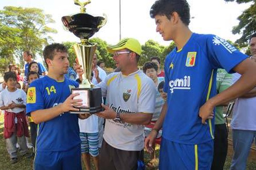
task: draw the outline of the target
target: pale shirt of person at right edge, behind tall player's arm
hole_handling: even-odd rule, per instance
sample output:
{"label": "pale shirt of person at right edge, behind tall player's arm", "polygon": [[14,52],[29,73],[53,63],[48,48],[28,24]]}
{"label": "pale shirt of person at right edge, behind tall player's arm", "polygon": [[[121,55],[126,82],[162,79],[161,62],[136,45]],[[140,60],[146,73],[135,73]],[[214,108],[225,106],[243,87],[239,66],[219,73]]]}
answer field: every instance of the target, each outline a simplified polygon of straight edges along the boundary
{"label": "pale shirt of person at right edge, behind tall player's arm", "polygon": [[[235,83],[240,77],[238,73],[233,74],[232,82]],[[231,127],[237,130],[256,130],[256,97],[236,99]]]}

